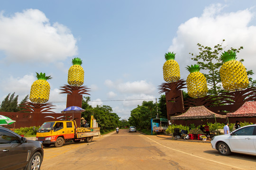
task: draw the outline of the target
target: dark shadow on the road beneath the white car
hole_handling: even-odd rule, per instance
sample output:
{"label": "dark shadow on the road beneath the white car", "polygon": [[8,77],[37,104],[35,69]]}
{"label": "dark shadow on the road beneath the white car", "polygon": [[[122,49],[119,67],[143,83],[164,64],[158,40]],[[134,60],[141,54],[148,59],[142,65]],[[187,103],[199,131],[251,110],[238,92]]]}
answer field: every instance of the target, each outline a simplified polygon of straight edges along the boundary
{"label": "dark shadow on the road beneath the white car", "polygon": [[[204,153],[212,154],[212,155],[215,155],[215,156],[224,156],[224,155],[219,154],[219,152],[217,150],[208,150],[208,151],[204,151]],[[246,155],[246,154],[240,154],[240,153],[231,153],[231,155],[229,155],[228,157],[238,159],[238,160],[256,162],[256,156],[252,156],[252,155]]]}

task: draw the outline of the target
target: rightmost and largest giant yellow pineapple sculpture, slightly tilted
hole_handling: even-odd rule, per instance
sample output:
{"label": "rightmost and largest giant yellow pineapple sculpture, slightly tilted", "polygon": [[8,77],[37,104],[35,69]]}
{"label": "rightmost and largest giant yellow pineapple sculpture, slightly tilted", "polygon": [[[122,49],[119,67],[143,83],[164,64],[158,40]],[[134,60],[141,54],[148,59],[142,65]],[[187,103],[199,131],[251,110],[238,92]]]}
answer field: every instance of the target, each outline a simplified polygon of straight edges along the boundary
{"label": "rightmost and largest giant yellow pineapple sculpture, slightly tilted", "polygon": [[237,61],[235,51],[224,51],[221,55],[223,65],[220,67],[219,74],[222,86],[227,91],[244,89],[249,85],[245,66]]}

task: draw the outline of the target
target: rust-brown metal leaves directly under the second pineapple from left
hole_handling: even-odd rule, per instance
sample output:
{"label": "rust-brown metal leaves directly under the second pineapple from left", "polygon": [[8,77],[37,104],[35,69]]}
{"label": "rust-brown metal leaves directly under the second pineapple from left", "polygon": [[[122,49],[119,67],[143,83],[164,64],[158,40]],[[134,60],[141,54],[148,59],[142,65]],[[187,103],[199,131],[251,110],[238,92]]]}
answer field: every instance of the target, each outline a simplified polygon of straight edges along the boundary
{"label": "rust-brown metal leaves directly under the second pineapple from left", "polygon": [[71,85],[64,85],[61,86],[61,89],[63,92],[60,92],[60,94],[88,94],[87,92],[90,92],[89,90],[90,88],[88,88],[87,86],[71,86]]}

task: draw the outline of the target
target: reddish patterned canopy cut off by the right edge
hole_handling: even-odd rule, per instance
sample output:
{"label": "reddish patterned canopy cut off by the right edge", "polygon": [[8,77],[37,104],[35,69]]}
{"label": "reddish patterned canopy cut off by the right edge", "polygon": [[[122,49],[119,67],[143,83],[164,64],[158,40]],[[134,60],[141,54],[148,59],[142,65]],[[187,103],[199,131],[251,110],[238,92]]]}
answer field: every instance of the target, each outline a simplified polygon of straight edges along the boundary
{"label": "reddish patterned canopy cut off by the right edge", "polygon": [[228,117],[256,117],[256,102],[245,102],[238,110],[227,113]]}

